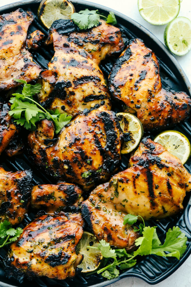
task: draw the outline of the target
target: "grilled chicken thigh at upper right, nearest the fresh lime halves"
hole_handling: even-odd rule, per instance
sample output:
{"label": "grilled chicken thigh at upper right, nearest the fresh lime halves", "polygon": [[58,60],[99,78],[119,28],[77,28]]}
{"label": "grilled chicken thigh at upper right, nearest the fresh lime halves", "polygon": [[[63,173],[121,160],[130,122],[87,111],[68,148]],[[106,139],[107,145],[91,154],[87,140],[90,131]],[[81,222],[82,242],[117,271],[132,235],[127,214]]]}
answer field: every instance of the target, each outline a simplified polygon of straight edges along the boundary
{"label": "grilled chicken thigh at upper right, nearest the fresh lime halves", "polygon": [[162,88],[157,58],[140,39],[129,41],[113,66],[109,83],[111,94],[129,112],[137,113],[144,130],[171,126],[189,117],[190,97]]}

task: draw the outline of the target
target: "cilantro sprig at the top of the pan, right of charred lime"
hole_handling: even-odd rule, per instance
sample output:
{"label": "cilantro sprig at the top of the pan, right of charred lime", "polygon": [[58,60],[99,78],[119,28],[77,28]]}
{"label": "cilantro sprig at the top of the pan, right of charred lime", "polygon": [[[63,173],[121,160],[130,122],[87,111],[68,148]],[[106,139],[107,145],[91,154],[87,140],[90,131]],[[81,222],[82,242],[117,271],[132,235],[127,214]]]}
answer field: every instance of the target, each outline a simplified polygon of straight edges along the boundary
{"label": "cilantro sprig at the top of the pan, right of charred lime", "polygon": [[99,24],[100,18],[106,19],[106,23],[117,24],[115,14],[110,11],[109,15],[106,17],[102,14],[99,14],[98,10],[81,10],[78,13],[73,13],[71,19],[74,23],[81,29],[89,29]]}

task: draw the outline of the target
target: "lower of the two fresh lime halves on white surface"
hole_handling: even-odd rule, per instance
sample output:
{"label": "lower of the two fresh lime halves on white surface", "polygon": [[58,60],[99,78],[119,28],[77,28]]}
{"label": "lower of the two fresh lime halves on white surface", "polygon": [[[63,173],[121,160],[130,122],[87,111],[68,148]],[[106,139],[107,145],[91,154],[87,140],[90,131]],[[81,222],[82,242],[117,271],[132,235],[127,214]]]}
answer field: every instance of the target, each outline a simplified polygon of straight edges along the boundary
{"label": "lower of the two fresh lime halves on white surface", "polygon": [[177,17],[164,30],[164,42],[168,49],[183,56],[191,49],[191,21],[186,17]]}

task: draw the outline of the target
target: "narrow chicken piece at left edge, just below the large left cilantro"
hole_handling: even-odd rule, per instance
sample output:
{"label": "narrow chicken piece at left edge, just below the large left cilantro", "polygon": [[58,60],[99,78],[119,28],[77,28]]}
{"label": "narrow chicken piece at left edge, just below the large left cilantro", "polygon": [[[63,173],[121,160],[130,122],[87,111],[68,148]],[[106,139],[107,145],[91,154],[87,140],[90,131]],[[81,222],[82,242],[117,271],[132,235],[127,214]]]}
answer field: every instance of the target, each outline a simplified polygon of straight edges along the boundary
{"label": "narrow chicken piece at left edge, just below the large left cilantro", "polygon": [[16,133],[16,127],[9,116],[9,105],[0,103],[0,154],[8,146]]}

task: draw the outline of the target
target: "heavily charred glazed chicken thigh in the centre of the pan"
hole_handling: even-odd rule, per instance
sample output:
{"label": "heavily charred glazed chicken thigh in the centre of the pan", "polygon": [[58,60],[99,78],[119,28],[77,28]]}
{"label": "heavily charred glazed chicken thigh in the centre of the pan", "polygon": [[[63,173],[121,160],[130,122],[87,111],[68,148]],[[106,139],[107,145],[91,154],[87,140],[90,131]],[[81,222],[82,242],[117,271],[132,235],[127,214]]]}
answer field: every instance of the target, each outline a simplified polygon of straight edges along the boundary
{"label": "heavily charred glazed chicken thigh in the centre of the pan", "polygon": [[56,179],[90,189],[119,167],[121,129],[106,106],[78,115],[54,139],[54,125],[43,120],[28,136],[33,161]]}

